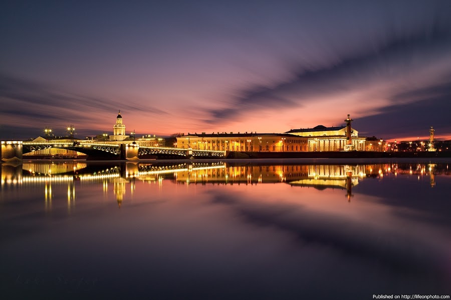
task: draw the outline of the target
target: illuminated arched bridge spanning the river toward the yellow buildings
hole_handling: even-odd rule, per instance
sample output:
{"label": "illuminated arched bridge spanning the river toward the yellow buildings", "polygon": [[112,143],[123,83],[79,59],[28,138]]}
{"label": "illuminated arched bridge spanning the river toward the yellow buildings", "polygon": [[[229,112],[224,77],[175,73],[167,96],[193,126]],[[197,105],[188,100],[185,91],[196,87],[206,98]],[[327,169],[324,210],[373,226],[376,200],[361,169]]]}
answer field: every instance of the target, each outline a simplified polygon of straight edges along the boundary
{"label": "illuminated arched bridge spanning the river toward the yellow buildings", "polygon": [[67,142],[67,141],[2,141],[2,161],[22,160],[22,155],[48,148],[68,149],[86,154],[88,160],[140,159],[223,159],[225,151],[192,148],[151,147],[136,143]]}

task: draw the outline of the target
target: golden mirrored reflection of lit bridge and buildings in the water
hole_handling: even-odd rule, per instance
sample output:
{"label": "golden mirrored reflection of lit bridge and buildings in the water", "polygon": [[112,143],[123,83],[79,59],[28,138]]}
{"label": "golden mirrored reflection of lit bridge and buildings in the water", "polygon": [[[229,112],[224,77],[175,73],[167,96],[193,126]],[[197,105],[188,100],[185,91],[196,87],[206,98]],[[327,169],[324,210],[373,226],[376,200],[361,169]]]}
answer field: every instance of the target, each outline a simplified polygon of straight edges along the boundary
{"label": "golden mirrored reflection of lit bridge and buildings in the water", "polygon": [[87,162],[27,162],[23,165],[2,165],[1,188],[42,186],[46,210],[52,209],[52,187],[67,187],[68,212],[75,206],[76,190],[84,184],[101,183],[107,195],[113,186],[118,207],[126,191],[136,190],[136,181],[155,183],[160,188],[163,181],[183,185],[260,185],[289,184],[292,187],[313,187],[318,190],[346,190],[351,201],[353,187],[367,178],[378,181],[386,177],[416,176],[417,180],[429,177],[435,187],[437,175],[449,175],[447,164],[402,163],[361,165],[311,165],[311,164],[252,164],[252,163],[119,163],[114,165],[88,164]]}

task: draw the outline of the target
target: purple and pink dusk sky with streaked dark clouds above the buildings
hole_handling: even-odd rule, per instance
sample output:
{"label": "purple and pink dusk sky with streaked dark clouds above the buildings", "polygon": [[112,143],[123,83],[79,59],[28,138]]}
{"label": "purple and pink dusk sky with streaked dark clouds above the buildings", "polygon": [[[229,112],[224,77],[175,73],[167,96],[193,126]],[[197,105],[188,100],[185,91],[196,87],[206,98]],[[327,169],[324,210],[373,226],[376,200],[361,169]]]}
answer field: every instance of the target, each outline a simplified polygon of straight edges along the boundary
{"label": "purple and pink dusk sky with streaked dark clouds above the buildings", "polygon": [[451,139],[451,1],[2,1],[0,139]]}

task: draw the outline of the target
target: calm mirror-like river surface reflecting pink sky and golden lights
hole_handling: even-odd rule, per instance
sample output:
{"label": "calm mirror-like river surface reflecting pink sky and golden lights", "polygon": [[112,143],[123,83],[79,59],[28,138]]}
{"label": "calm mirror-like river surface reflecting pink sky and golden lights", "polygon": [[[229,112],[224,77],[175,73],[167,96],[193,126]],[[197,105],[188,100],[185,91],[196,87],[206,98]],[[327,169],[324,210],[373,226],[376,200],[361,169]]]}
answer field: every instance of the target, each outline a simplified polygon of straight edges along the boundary
{"label": "calm mirror-like river surface reflecting pink sky and golden lights", "polygon": [[3,164],[2,298],[451,293],[448,162],[313,162]]}

